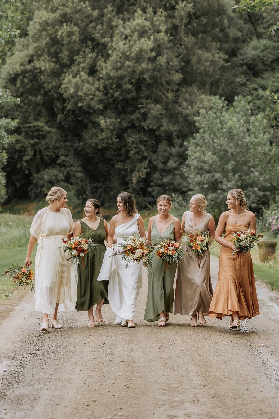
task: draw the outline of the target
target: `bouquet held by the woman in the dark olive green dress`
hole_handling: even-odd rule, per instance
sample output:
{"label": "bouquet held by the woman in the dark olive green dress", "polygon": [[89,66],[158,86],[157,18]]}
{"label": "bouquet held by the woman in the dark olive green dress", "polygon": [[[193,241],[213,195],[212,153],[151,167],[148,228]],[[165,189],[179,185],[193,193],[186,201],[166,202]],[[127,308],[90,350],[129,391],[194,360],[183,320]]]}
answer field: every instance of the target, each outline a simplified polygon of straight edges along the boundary
{"label": "bouquet held by the woman in the dark olive green dress", "polygon": [[64,240],[63,238],[62,243],[64,243],[64,246],[60,247],[64,248],[64,253],[67,251],[70,253],[67,261],[70,260],[76,264],[79,264],[81,259],[82,264],[86,263],[88,253],[90,256],[90,251],[96,246],[92,240],[78,236],[72,237],[71,240]]}

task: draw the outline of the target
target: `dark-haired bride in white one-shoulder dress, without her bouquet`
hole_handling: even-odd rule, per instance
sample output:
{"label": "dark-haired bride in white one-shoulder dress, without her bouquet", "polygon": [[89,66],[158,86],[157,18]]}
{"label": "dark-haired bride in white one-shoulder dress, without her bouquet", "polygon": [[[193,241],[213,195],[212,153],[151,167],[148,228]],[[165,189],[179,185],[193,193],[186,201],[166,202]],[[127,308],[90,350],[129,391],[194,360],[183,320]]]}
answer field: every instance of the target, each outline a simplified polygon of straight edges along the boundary
{"label": "dark-haired bride in white one-shoulder dress, without her bouquet", "polygon": [[117,197],[117,214],[110,221],[110,231],[108,234],[108,249],[102,263],[99,277],[97,280],[109,279],[108,299],[110,307],[116,314],[115,324],[135,327],[134,317],[138,291],[142,287],[141,269],[142,262],[122,259],[121,255],[112,256],[113,239],[116,237],[116,246],[123,240],[123,237],[130,237],[134,233],[139,233],[141,237],[146,237],[143,219],[137,213],[136,204],[133,197],[128,192],[123,192]]}

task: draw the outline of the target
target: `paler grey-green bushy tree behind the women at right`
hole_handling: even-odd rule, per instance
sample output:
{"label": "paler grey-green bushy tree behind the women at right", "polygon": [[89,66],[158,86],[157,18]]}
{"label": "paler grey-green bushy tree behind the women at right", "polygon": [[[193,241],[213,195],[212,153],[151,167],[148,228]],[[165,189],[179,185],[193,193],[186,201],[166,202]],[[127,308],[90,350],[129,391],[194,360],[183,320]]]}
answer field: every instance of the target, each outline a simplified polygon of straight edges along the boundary
{"label": "paler grey-green bushy tree behind the women at right", "polygon": [[195,119],[199,132],[190,142],[184,172],[192,193],[206,196],[215,218],[225,210],[230,189],[243,189],[257,214],[278,191],[278,148],[270,144],[264,115],[253,115],[249,102],[238,96],[229,108],[214,97],[210,111],[200,111]]}

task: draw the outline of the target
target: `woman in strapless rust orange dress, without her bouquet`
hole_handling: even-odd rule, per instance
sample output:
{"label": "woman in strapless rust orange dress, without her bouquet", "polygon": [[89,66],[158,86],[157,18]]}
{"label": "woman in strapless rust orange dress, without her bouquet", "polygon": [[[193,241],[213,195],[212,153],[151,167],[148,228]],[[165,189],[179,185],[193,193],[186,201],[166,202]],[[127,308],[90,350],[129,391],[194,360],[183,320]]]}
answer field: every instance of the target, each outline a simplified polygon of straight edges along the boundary
{"label": "woman in strapless rust orange dress, without her bouquet", "polygon": [[[240,253],[231,242],[233,233],[251,228],[256,233],[256,217],[248,210],[241,189],[227,195],[228,211],[221,214],[215,241],[222,245],[218,282],[210,304],[210,317],[230,316],[230,329],[241,329],[240,320],[260,314],[250,250]],[[222,237],[225,230],[225,236]]]}

